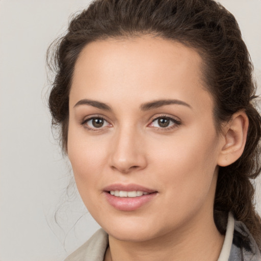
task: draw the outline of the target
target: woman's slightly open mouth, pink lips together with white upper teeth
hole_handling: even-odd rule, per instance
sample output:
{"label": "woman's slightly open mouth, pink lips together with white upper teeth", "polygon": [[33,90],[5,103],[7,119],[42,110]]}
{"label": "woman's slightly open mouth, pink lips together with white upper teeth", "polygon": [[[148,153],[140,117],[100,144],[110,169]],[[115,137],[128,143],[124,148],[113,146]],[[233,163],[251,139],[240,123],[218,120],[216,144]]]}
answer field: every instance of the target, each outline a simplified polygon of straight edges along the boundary
{"label": "woman's slightly open mouth, pink lips together with white upper teeth", "polygon": [[139,185],[112,185],[103,190],[107,202],[119,211],[135,211],[153,200],[158,191]]}

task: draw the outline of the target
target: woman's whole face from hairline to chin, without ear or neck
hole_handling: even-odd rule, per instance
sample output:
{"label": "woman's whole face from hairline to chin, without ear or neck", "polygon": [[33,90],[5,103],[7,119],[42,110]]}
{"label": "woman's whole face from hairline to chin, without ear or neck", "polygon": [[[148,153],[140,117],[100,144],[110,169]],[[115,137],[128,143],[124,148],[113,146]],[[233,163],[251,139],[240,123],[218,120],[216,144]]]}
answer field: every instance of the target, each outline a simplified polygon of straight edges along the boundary
{"label": "woman's whole face from hairline to chin, without ear or neck", "polygon": [[212,217],[222,146],[200,68],[194,50],[150,36],[92,42],[80,54],[68,156],[112,237],[144,241]]}

